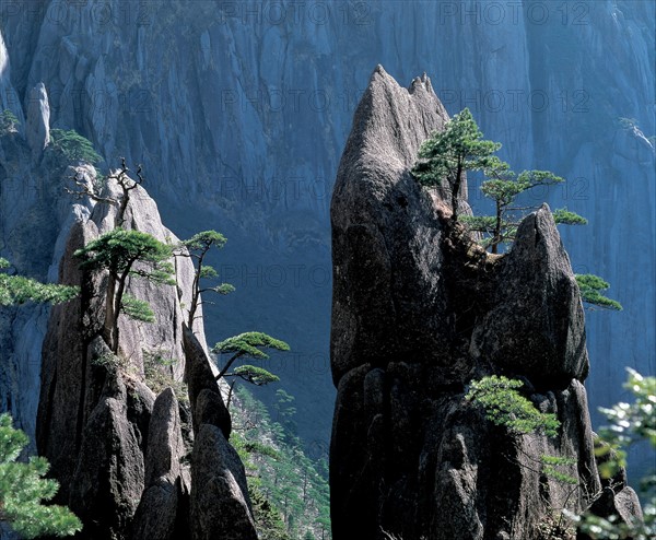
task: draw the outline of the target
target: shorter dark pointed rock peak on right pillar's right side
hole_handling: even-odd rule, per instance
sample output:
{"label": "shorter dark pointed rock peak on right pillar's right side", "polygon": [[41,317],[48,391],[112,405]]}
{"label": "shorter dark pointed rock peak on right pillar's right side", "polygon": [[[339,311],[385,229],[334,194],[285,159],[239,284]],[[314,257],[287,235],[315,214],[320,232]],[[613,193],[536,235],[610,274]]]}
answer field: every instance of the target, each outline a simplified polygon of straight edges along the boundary
{"label": "shorter dark pointed rock peak on right pillar's right side", "polygon": [[540,385],[583,380],[583,305],[547,204],[522,222],[497,279],[494,307],[473,329],[472,356]]}

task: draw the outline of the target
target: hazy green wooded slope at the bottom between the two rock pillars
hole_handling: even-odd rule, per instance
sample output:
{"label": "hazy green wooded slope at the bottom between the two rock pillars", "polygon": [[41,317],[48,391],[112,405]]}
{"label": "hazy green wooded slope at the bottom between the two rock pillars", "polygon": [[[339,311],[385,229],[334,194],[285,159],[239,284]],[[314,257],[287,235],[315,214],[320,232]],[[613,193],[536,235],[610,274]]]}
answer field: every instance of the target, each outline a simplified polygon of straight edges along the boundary
{"label": "hazy green wooded slope at the bottom between the two rock pillars", "polygon": [[231,443],[246,467],[259,538],[329,540],[326,460],[313,460],[305,454],[290,421],[295,408],[290,406],[289,395],[279,396],[282,402],[274,419],[245,388],[236,390],[232,411]]}

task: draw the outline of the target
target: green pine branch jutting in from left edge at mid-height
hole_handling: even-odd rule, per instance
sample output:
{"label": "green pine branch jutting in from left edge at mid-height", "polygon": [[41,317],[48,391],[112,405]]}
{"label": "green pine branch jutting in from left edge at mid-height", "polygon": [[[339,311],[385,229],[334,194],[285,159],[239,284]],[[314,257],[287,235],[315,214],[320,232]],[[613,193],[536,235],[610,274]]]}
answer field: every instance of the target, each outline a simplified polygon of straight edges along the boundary
{"label": "green pine branch jutting in from left edge at mid-height", "polygon": [[24,304],[30,301],[60,304],[74,298],[80,293],[75,286],[39,283],[22,275],[9,275],[2,271],[9,267],[9,261],[0,258],[0,306]]}

